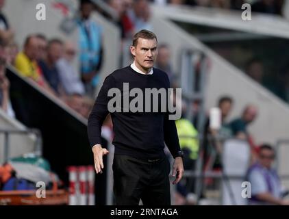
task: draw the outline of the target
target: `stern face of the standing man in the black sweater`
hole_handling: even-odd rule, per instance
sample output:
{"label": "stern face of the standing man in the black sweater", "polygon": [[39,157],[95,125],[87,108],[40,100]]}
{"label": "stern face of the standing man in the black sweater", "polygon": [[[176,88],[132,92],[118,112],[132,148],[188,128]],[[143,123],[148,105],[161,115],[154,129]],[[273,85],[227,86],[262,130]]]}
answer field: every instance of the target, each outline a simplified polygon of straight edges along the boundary
{"label": "stern face of the standing man in the black sweater", "polygon": [[140,68],[140,70],[147,72],[147,70],[153,67],[158,55],[157,40],[138,38],[136,47],[131,47],[130,49],[131,54],[134,55],[136,66]]}

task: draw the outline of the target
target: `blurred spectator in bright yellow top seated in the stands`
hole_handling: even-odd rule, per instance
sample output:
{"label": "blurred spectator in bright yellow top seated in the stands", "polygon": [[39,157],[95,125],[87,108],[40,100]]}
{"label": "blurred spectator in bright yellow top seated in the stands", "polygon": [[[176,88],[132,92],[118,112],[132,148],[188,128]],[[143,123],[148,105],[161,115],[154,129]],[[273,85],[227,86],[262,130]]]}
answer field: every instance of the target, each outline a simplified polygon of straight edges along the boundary
{"label": "blurred spectator in bright yellow top seated in the stands", "polygon": [[49,84],[40,72],[37,60],[39,55],[38,38],[34,35],[27,36],[24,42],[23,51],[16,55],[15,68],[18,73],[24,77],[29,77],[32,81],[36,82],[38,86],[54,94]]}

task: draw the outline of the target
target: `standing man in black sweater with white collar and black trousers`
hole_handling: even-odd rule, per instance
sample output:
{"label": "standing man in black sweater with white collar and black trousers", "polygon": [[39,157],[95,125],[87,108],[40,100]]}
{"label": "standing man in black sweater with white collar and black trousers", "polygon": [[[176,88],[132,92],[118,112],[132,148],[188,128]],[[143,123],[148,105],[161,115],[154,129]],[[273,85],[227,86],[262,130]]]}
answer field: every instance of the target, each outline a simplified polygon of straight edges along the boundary
{"label": "standing man in black sweater with white collar and black trousers", "polygon": [[[168,110],[160,110],[164,96],[152,102],[147,101],[146,95],[138,96],[142,103],[138,103],[137,111],[132,110],[132,102],[135,101],[132,97],[136,91],[146,94],[148,89],[168,90],[170,81],[166,73],[153,68],[158,55],[155,34],[147,30],[139,31],[130,50],[134,63],[115,70],[105,78],[88,118],[88,138],[94,153],[95,169],[97,173],[102,171],[103,155],[108,154],[108,150],[101,146],[101,125],[110,113],[114,124],[112,168],[116,205],[138,205],[140,199],[144,205],[171,205],[168,178],[171,168],[164,154],[164,142],[175,158],[174,184],[181,180],[184,172],[175,121],[170,119]],[[134,95],[131,96],[133,91]],[[114,98],[112,93],[115,94]],[[111,103],[112,99],[116,100],[116,107]],[[129,105],[125,105],[125,99]],[[155,104],[158,105],[157,111]]]}

